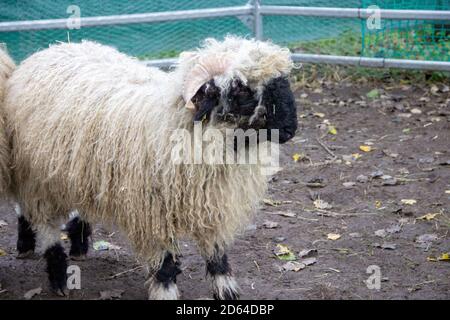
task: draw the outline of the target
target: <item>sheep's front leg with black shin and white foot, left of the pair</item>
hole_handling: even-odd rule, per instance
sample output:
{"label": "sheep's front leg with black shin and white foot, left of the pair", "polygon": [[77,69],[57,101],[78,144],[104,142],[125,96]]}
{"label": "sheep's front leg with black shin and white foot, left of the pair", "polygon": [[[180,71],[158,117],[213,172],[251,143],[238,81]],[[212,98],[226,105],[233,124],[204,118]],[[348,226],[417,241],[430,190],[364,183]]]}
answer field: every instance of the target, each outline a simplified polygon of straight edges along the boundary
{"label": "sheep's front leg with black shin and white foot, left of the pair", "polygon": [[150,300],[177,300],[180,296],[177,275],[181,273],[180,262],[167,252],[161,268],[149,280]]}

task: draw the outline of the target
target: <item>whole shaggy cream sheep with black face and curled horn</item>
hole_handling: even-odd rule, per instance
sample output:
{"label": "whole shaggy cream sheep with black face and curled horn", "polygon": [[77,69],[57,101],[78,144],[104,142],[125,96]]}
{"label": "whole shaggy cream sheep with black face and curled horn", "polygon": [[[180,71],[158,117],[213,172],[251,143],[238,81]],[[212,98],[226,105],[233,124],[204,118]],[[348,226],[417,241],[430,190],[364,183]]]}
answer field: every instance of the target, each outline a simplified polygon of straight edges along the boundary
{"label": "whole shaggy cream sheep with black face and curled horn", "polygon": [[226,249],[266,192],[263,164],[197,164],[192,154],[175,163],[174,132],[265,128],[289,140],[297,129],[292,67],[285,48],[228,36],[182,53],[169,72],[90,41],[50,46],[7,69],[0,145],[11,150],[0,163],[11,161],[8,193],[41,238],[50,288],[65,294],[59,220],[76,209],[126,235],[147,266],[149,299],[179,297],[185,237],[206,261],[214,297],[238,298]]}

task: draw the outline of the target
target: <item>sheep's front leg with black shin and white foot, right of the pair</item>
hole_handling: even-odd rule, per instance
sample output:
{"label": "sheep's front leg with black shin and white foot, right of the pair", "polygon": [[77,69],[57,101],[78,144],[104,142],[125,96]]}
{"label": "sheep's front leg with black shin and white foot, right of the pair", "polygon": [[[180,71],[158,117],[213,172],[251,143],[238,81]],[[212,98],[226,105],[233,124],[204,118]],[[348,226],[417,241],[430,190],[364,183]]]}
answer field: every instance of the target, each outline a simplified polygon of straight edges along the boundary
{"label": "sheep's front leg with black shin and white foot, right of the pair", "polygon": [[205,260],[206,272],[212,279],[214,299],[239,299],[239,287],[232,275],[227,255],[216,250],[212,256],[205,258]]}

